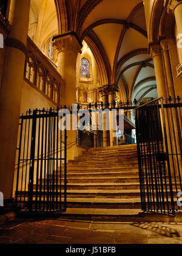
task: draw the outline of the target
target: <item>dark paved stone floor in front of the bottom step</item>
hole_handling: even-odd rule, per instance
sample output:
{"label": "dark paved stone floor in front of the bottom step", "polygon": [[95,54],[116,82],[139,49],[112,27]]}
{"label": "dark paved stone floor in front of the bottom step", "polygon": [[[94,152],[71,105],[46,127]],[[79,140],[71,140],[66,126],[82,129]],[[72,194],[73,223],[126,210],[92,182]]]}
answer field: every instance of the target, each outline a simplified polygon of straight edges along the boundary
{"label": "dark paved stone floor in front of the bottom step", "polygon": [[111,223],[16,218],[0,225],[1,244],[181,244],[182,223]]}

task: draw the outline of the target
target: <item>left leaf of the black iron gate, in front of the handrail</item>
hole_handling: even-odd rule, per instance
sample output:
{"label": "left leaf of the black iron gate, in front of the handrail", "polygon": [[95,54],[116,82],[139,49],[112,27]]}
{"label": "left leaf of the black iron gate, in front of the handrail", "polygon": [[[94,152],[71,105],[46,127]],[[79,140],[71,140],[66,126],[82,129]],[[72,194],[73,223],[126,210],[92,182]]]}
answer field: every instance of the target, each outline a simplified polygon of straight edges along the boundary
{"label": "left leaf of the black iron gate, in front of the handrail", "polygon": [[66,130],[59,109],[27,111],[20,117],[15,201],[21,210],[66,210]]}

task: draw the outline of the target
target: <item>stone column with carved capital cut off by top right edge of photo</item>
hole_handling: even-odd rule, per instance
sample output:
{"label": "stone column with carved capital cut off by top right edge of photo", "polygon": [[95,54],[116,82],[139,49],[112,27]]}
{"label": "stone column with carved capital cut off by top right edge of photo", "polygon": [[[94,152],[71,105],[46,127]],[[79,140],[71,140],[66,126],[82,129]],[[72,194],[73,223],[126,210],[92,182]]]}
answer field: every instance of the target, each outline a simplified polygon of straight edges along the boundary
{"label": "stone column with carved capital cut off by top right edge of photo", "polygon": [[[182,34],[182,0],[169,0],[167,6],[168,12],[173,13],[177,24],[178,34]],[[177,38],[177,41],[180,40]],[[182,77],[182,48],[179,48],[179,61],[180,64],[177,66],[177,77]]]}

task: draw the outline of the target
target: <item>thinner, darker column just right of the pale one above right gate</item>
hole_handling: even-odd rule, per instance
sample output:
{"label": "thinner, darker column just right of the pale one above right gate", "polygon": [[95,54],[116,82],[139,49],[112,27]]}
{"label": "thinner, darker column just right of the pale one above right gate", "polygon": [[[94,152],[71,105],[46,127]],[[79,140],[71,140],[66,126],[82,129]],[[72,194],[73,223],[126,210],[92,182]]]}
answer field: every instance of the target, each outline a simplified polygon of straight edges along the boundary
{"label": "thinner, darker column just right of the pale one above right gate", "polygon": [[174,91],[174,83],[172,78],[172,70],[170,64],[170,57],[169,57],[169,40],[161,40],[161,46],[163,48],[163,56],[164,56],[164,71],[166,73],[167,78],[167,98],[172,96],[175,99],[175,91]]}

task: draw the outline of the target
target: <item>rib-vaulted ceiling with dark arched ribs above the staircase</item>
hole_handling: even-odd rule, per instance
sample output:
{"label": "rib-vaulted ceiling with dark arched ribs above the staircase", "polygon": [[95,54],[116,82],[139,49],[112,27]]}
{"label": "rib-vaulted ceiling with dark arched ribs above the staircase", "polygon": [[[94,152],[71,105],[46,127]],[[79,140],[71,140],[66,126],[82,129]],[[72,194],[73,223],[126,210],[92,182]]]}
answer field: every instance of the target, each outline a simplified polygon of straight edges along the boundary
{"label": "rib-vaulted ceiling with dark arched ribs above the staircase", "polygon": [[157,97],[141,0],[31,0],[31,6],[39,47],[46,36],[72,30],[92,50],[103,85],[115,83],[127,101]]}

